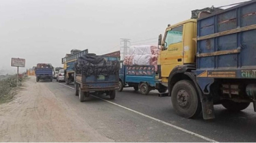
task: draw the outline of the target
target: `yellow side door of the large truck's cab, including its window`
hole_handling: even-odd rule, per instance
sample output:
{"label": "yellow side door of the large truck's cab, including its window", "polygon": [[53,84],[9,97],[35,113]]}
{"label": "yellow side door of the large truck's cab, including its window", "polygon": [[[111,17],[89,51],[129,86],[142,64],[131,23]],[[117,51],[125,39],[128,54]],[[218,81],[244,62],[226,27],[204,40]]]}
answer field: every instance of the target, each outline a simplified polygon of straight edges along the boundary
{"label": "yellow side door of the large truck's cab, including its window", "polygon": [[[183,65],[183,25],[166,29],[164,48],[161,52],[162,77],[168,76],[177,65]],[[167,81],[166,81],[167,80]]]}

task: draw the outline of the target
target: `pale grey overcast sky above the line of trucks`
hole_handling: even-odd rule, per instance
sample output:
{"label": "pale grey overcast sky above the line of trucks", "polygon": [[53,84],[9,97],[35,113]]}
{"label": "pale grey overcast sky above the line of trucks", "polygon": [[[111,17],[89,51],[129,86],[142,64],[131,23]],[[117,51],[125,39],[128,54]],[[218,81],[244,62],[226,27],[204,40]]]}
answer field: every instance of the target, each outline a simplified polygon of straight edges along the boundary
{"label": "pale grey overcast sky above the line of trucks", "polygon": [[[26,59],[21,71],[36,63],[62,67],[61,59],[71,49],[114,52],[120,38],[157,44],[168,24],[189,19],[192,10],[241,1],[0,0],[0,70],[15,72],[12,57]],[[152,40],[136,42],[144,39]]]}

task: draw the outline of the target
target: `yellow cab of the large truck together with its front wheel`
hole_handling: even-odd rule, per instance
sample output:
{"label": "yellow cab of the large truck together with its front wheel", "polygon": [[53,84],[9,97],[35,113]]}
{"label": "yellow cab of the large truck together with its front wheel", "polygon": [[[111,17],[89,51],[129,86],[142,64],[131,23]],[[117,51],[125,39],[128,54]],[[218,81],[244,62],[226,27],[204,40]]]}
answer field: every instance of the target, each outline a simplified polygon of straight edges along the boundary
{"label": "yellow cab of the large truck together with its front wheel", "polygon": [[[190,19],[168,25],[164,38],[159,35],[161,52],[157,61],[159,79],[168,86],[172,106],[180,116],[192,118],[201,110],[201,95],[196,84],[196,20]],[[206,108],[205,108],[206,109]],[[204,109],[203,109],[204,110]],[[206,117],[208,118],[208,117]],[[214,118],[214,116],[209,116]]]}

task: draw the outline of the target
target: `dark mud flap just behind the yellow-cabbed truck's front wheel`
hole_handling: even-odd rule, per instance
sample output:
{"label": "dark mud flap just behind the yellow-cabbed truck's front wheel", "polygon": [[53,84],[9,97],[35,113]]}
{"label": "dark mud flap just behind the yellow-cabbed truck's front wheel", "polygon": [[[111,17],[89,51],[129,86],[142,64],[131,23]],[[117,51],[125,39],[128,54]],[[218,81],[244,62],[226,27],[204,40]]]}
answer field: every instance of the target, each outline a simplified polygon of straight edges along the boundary
{"label": "dark mud flap just behind the yellow-cabbed truck's front wheel", "polygon": [[203,119],[215,118],[214,114],[214,102],[213,101],[202,101]]}

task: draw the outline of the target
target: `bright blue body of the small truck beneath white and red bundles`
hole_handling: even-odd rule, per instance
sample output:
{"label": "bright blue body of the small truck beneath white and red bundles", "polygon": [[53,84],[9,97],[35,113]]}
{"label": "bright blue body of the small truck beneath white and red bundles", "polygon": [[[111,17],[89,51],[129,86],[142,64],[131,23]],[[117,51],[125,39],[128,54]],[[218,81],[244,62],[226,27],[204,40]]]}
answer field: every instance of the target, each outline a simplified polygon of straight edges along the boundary
{"label": "bright blue body of the small truck beneath white and red bundles", "polygon": [[153,65],[123,65],[120,61],[119,89],[133,87],[135,91],[140,90],[143,95],[148,95],[151,90],[157,89],[159,93],[166,93],[167,87],[162,85],[155,66]]}

